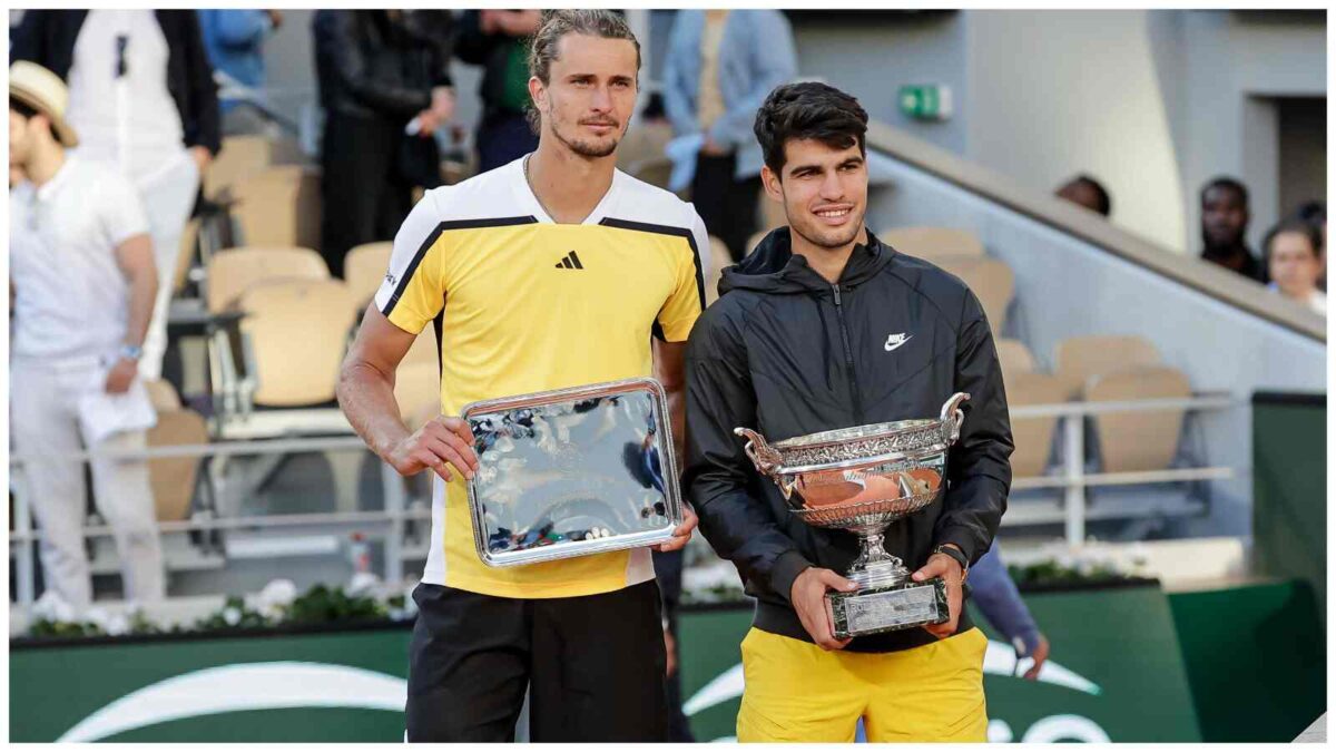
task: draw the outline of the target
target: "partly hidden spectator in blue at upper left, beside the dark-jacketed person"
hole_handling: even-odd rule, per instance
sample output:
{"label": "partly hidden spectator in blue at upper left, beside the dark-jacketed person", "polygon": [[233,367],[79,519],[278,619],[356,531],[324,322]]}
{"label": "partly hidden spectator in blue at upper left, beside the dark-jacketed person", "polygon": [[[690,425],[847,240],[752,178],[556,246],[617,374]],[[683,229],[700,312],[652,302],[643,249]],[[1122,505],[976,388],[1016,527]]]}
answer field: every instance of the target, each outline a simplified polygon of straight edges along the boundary
{"label": "partly hidden spectator in blue at upper left, beside the dark-jacketed person", "polygon": [[[281,11],[200,9],[199,27],[214,70],[248,90],[265,86],[265,40],[283,23]],[[223,99],[223,135],[258,132],[254,110]]]}

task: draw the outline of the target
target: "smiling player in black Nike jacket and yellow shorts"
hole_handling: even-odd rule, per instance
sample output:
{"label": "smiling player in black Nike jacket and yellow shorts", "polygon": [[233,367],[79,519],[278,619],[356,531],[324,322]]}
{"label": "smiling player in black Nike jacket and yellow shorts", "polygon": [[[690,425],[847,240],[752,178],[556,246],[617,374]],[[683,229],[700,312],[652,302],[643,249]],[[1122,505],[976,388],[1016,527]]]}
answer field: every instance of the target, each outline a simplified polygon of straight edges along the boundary
{"label": "smiling player in black Nike jacket and yellow shorts", "polygon": [[[864,226],[867,114],[819,83],[786,84],[756,114],[766,191],[788,226],[724,270],[687,347],[687,472],[700,530],[756,598],[741,645],[739,740],[985,741],[987,640],[963,607],[969,565],[993,541],[1011,484],[1011,428],[993,333],[961,280]],[[945,496],[891,525],[886,550],[941,575],[951,618],[851,641],[824,595],[858,539],[804,525],[743,454],[768,440],[934,417],[969,392]]]}

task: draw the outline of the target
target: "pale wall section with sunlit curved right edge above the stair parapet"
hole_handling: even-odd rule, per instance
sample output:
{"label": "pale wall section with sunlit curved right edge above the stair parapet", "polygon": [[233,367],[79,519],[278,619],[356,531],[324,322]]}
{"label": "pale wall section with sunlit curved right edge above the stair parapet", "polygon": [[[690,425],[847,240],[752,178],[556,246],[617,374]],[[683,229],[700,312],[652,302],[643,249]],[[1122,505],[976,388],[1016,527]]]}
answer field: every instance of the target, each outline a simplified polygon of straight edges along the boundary
{"label": "pale wall section with sunlit curved right edge above the stair parapet", "polygon": [[1146,11],[971,11],[966,157],[1053,190],[1090,173],[1112,221],[1182,250],[1182,175]]}

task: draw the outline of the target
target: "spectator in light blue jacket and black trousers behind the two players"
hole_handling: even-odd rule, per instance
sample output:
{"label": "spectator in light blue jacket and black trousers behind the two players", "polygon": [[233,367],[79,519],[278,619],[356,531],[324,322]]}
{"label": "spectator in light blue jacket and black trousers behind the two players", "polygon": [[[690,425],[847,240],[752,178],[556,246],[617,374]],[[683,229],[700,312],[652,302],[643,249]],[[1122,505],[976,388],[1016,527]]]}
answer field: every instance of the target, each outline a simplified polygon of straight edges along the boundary
{"label": "spectator in light blue jacket and black trousers behind the two players", "polygon": [[780,11],[677,11],[664,60],[664,107],[677,136],[700,139],[691,201],[735,260],[756,231],[760,145],[756,110],[798,74]]}

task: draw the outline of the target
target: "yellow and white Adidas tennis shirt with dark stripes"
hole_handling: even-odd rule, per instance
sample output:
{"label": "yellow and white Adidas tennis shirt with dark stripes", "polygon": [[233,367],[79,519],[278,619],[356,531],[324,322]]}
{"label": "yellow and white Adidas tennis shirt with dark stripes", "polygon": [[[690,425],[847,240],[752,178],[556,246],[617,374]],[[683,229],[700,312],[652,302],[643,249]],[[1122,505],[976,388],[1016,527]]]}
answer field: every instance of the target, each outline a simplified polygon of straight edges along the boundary
{"label": "yellow and white Adidas tennis shirt with dark stripes", "polygon": [[[394,238],[375,305],[436,326],[441,412],[484,399],[649,376],[651,337],[687,339],[704,308],[708,236],[676,195],[617,171],[580,225],[558,225],[522,159],[430,190]],[[424,582],[510,598],[608,593],[655,575],[648,549],[493,569],[468,491],[434,479]]]}

